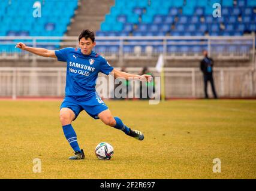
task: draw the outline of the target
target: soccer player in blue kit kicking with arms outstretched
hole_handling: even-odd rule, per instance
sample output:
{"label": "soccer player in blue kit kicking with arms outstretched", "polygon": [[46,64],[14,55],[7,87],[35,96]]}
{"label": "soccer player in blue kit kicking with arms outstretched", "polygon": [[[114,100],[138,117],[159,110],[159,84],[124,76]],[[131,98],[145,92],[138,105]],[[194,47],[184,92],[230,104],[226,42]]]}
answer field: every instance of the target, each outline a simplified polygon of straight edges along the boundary
{"label": "soccer player in blue kit kicking with arms outstretched", "polygon": [[19,42],[16,47],[30,53],[43,57],[58,58],[59,61],[67,62],[67,76],[65,98],[61,104],[59,118],[62,124],[64,135],[74,150],[74,156],[69,159],[84,159],[83,149],[80,149],[77,142],[77,135],[71,123],[80,112],[85,110],[92,118],[101,119],[104,124],[124,131],[125,134],[143,140],[144,135],[137,130],[124,125],[122,120],[113,116],[107,105],[98,96],[95,85],[98,73],[106,75],[112,73],[115,78],[137,78],[141,81],[150,81],[150,75],[134,75],[121,72],[114,69],[110,64],[95,53],[92,49],[95,47],[94,32],[86,29],[79,35],[79,48],[63,48],[61,50],[47,50],[45,48],[28,47]]}

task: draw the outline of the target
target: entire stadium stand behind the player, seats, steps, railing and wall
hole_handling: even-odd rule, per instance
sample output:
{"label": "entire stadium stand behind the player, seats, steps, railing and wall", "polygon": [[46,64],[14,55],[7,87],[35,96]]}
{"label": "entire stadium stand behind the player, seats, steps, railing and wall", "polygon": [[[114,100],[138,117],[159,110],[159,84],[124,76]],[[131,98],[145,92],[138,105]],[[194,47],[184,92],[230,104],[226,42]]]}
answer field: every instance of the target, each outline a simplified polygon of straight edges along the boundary
{"label": "entire stadium stand behind the player, seats, steps, railing and wall", "polygon": [[[77,47],[86,28],[96,32],[95,51],[131,73],[155,71],[163,53],[169,97],[202,95],[204,49],[215,60],[219,96],[255,95],[255,0],[40,0],[40,18],[35,2],[0,1],[0,96],[62,96],[66,63],[14,47]],[[221,17],[212,16],[215,2]]]}

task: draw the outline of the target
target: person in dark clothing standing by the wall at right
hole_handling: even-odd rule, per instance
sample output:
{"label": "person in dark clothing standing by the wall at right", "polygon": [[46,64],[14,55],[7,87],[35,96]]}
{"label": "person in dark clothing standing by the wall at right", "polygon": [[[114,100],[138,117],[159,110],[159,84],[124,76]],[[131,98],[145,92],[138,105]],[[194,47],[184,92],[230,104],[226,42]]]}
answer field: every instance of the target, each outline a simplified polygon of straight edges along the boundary
{"label": "person in dark clothing standing by the wall at right", "polygon": [[204,58],[201,60],[200,69],[203,72],[203,79],[204,79],[204,95],[205,98],[209,98],[207,94],[207,82],[210,81],[210,85],[212,86],[212,93],[214,98],[218,98],[213,81],[213,60],[212,58],[208,57],[208,53],[206,50],[203,51]]}

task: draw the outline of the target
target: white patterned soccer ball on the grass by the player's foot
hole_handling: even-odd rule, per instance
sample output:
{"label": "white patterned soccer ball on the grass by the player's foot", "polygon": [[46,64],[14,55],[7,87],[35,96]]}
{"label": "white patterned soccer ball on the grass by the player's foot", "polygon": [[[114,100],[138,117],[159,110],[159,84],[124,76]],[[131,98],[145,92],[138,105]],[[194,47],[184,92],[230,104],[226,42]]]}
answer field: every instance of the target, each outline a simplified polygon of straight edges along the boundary
{"label": "white patterned soccer ball on the grass by the player's foot", "polygon": [[111,144],[103,142],[97,145],[95,148],[95,155],[98,159],[109,160],[112,158],[114,149]]}

